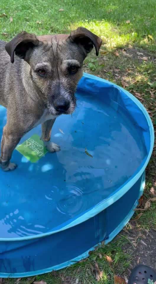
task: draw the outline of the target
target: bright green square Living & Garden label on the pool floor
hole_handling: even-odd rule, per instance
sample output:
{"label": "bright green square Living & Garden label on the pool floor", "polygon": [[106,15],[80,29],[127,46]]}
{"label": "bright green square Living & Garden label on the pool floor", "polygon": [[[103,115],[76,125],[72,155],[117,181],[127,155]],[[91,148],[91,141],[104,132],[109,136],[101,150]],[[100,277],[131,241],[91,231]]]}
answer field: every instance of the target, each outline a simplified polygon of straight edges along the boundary
{"label": "bright green square Living & Garden label on the pool floor", "polygon": [[48,150],[45,148],[44,143],[40,140],[37,134],[32,135],[29,139],[16,147],[23,156],[30,162],[35,163],[40,158],[44,157]]}

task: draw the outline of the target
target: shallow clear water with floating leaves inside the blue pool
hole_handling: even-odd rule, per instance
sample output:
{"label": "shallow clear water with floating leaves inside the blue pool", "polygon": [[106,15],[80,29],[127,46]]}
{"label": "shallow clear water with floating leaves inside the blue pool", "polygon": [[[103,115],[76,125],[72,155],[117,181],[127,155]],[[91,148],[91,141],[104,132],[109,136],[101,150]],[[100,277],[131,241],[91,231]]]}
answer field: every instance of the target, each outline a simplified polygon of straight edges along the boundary
{"label": "shallow clear water with floating leaves inside the blue pool", "polygon": [[[146,156],[141,130],[128,116],[91,95],[79,93],[77,98],[72,117],[62,115],[53,126],[51,138],[60,152],[31,163],[15,150],[12,161],[18,168],[1,172],[0,237],[36,235],[64,226],[107,199]],[[5,123],[6,110],[0,107],[1,134]],[[40,133],[38,126],[21,142]]]}

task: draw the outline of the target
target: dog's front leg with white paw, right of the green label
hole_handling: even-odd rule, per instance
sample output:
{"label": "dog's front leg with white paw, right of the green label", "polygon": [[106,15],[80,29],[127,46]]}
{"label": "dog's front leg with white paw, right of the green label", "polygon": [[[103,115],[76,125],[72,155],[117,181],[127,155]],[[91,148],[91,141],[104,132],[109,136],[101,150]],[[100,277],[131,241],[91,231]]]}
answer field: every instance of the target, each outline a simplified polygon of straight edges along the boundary
{"label": "dog's front leg with white paw, right of the green label", "polygon": [[60,146],[50,141],[51,139],[51,129],[55,119],[47,120],[42,124],[42,137],[41,139],[44,141],[44,145],[47,150],[51,153],[60,151]]}

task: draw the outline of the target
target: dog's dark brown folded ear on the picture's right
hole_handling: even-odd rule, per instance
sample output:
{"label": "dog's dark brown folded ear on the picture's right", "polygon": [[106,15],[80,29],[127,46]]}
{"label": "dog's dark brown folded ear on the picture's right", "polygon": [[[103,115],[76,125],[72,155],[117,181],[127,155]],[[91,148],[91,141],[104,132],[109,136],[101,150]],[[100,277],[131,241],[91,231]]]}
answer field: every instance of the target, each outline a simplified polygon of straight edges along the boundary
{"label": "dog's dark brown folded ear on the picture's right", "polygon": [[82,45],[87,53],[89,53],[94,46],[96,55],[98,56],[102,39],[90,32],[90,30],[82,27],[77,28],[77,30],[73,30],[70,33],[69,38],[71,41]]}

